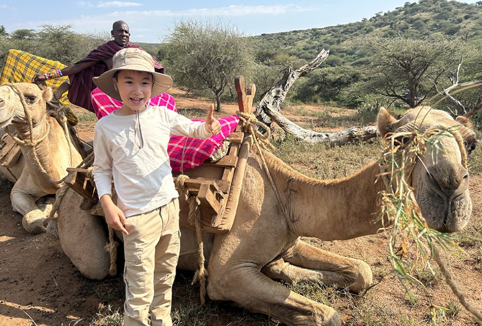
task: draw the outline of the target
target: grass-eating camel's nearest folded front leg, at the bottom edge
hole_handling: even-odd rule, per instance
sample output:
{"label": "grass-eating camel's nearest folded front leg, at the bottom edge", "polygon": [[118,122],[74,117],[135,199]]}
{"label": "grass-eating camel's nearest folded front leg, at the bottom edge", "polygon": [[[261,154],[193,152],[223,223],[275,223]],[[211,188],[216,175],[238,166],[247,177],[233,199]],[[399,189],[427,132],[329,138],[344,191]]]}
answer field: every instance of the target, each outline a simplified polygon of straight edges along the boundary
{"label": "grass-eating camel's nearest folded front leg, at the bottom edge", "polygon": [[338,313],[266,277],[254,266],[210,270],[208,295],[230,300],[253,312],[262,312],[287,325],[338,326]]}

